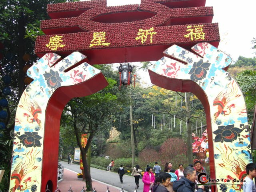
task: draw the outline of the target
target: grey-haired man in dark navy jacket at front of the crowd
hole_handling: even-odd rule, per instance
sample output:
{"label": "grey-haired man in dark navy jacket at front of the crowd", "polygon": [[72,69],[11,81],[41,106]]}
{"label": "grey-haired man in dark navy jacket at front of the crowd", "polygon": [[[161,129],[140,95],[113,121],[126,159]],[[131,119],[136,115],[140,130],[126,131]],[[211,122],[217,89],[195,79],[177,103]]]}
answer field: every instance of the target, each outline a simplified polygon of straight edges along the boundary
{"label": "grey-haired man in dark navy jacket at front of the crowd", "polygon": [[[183,171],[184,177],[173,183],[173,190],[176,192],[194,192],[196,170],[193,167],[186,167]],[[203,192],[204,186],[198,186],[197,192]]]}

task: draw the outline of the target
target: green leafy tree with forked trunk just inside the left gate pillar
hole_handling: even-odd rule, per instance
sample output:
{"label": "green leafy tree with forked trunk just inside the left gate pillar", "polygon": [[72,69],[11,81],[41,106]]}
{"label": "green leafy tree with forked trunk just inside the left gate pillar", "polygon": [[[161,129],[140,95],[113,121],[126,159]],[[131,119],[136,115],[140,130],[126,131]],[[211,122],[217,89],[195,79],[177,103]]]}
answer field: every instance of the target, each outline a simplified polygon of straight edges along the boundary
{"label": "green leafy tree with forked trunk just inside the left gate pillar", "polygon": [[[98,68],[110,70],[106,66],[105,68],[98,66]],[[74,128],[73,132],[81,151],[83,175],[88,191],[92,189],[89,148],[96,132],[110,127],[112,116],[117,112],[118,102],[115,102],[118,98],[117,82],[112,78],[107,78],[107,80],[109,85],[103,90],[87,97],[70,100],[63,113],[65,116],[63,123]],[[86,146],[81,144],[81,134],[88,134]]]}

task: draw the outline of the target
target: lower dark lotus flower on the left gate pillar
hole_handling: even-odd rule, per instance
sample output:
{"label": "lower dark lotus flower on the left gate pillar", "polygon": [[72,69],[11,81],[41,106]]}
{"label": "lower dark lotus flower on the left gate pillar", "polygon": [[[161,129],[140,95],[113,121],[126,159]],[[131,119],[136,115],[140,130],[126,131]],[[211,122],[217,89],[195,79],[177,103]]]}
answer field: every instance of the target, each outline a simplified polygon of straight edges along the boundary
{"label": "lower dark lotus flower on the left gate pillar", "polygon": [[24,132],[25,134],[21,136],[17,136],[20,139],[20,142],[25,147],[40,147],[40,139],[42,139],[41,136],[38,135],[37,132]]}

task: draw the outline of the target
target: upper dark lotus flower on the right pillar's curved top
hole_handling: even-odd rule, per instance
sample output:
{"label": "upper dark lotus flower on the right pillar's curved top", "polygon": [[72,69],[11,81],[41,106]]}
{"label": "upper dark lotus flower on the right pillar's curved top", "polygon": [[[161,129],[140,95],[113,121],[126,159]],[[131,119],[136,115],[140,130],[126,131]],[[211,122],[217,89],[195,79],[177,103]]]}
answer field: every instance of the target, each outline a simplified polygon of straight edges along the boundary
{"label": "upper dark lotus flower on the right pillar's curved top", "polygon": [[190,74],[190,79],[198,82],[206,77],[207,70],[209,70],[210,63],[203,62],[202,59],[198,62],[194,62],[192,69],[188,74]]}

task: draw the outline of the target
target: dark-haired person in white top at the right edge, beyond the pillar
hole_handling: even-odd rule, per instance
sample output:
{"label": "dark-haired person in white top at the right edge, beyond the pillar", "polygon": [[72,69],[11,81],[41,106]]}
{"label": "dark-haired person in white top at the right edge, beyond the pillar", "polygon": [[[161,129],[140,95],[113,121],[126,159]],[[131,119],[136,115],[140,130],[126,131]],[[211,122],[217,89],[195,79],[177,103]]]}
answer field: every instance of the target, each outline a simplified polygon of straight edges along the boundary
{"label": "dark-haired person in white top at the right edge, beyond the pillar", "polygon": [[249,163],[246,165],[246,173],[247,176],[244,179],[244,186],[243,190],[244,192],[256,192],[256,187],[253,182],[253,178],[256,177],[256,164],[255,163]]}

